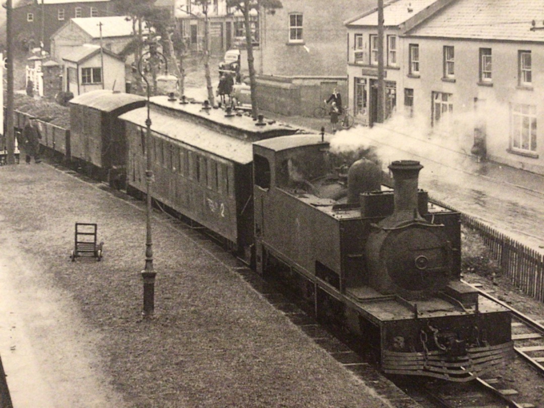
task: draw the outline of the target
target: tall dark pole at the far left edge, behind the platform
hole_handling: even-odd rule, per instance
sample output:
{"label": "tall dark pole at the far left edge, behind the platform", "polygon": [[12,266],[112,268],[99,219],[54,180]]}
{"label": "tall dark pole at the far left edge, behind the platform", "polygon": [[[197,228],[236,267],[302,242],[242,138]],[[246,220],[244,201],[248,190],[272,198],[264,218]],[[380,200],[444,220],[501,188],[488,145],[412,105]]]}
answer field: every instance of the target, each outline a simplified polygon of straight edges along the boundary
{"label": "tall dark pole at the far left edge, behind the platform", "polygon": [[6,150],[8,151],[8,157],[6,159],[7,164],[15,164],[15,138],[13,132],[13,16],[12,0],[5,2],[6,9],[6,38],[8,42],[8,56],[7,56],[7,77],[8,77],[8,89],[6,96],[6,118],[5,118],[5,141]]}

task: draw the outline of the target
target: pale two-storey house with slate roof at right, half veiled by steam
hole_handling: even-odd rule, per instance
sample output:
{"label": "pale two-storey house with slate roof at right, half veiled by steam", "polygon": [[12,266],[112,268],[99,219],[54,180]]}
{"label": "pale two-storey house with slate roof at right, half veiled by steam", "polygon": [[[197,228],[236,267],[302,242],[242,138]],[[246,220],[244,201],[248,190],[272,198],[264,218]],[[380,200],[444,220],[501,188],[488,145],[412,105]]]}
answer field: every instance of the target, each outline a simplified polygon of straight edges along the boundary
{"label": "pale two-storey house with slate roof at right, half veiled by steam", "polygon": [[404,104],[437,139],[544,174],[543,20],[532,0],[452,2],[405,33]]}

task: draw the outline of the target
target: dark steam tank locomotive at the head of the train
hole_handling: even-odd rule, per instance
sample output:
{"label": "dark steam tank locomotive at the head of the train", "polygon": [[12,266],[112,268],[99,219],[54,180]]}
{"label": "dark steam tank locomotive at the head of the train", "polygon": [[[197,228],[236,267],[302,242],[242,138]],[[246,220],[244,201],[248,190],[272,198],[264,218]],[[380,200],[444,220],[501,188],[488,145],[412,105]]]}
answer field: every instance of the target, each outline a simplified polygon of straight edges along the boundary
{"label": "dark steam tank locomotive at the head of the train", "polygon": [[[329,144],[254,144],[259,273],[360,339],[388,374],[468,381],[513,350],[510,314],[460,280],[460,214],[418,189],[418,162],[331,173]],[[353,185],[355,184],[355,185]],[[368,191],[370,190],[370,191]]]}

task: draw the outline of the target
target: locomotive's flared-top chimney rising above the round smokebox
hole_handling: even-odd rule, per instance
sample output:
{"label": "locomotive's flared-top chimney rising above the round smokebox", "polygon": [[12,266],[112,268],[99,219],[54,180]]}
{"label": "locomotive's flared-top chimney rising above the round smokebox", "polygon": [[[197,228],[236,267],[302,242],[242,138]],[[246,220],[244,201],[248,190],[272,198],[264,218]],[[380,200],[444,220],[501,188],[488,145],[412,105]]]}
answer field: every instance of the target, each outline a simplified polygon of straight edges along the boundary
{"label": "locomotive's flared-top chimney rising above the round smokebox", "polygon": [[421,218],[418,212],[418,176],[423,166],[416,160],[398,160],[390,164],[394,181],[396,219]]}

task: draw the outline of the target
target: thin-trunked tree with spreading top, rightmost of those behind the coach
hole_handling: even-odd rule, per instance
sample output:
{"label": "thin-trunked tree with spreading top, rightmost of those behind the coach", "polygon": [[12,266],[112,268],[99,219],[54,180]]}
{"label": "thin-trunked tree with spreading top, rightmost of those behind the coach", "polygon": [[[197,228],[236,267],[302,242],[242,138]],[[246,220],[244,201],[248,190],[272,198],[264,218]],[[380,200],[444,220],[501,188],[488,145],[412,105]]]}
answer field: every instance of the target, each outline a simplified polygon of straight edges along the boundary
{"label": "thin-trunked tree with spreading top, rightmost of those behind the coach", "polygon": [[251,87],[251,116],[257,118],[259,109],[257,103],[257,78],[255,72],[255,58],[253,56],[253,39],[251,33],[251,10],[275,10],[283,7],[280,0],[226,0],[227,7],[242,12],[244,16],[245,45],[248,52],[249,85]]}

